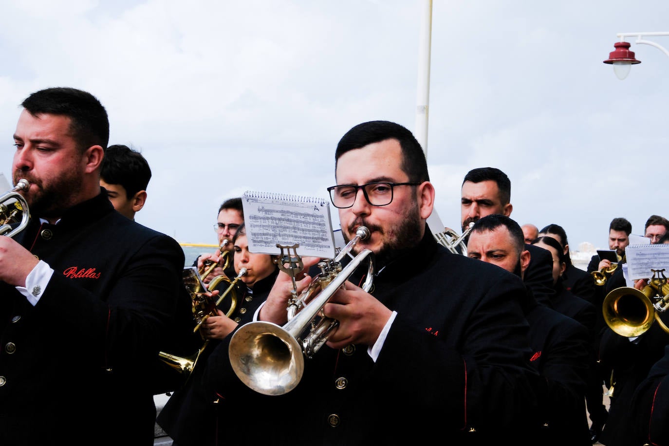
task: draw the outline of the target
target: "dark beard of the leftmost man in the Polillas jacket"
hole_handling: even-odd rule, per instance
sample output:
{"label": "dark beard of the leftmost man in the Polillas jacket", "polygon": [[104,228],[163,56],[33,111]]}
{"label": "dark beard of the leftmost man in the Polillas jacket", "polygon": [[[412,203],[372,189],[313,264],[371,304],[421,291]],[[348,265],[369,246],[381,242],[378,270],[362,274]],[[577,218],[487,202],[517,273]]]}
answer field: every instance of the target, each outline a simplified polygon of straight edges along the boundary
{"label": "dark beard of the leftmost man in the Polillas jacket", "polygon": [[63,171],[60,177],[50,183],[17,171],[13,176],[14,184],[22,178],[30,183],[30,188],[28,191],[21,191],[21,195],[28,203],[30,214],[35,217],[62,217],[63,211],[72,205],[72,193],[81,187],[79,173],[73,170]]}

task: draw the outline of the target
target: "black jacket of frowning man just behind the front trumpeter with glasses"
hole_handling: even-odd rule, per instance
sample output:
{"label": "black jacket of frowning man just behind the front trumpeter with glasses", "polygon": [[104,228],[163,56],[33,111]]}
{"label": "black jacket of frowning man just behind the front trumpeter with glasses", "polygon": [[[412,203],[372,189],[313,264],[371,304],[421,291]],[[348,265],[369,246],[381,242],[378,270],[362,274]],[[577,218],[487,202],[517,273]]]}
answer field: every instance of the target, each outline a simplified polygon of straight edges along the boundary
{"label": "black jacket of frowning man just behind the front trumpeter with glasses", "polygon": [[591,445],[585,412],[585,388],[591,359],[587,328],[557,310],[539,304],[528,290],[530,362],[541,375],[537,445]]}

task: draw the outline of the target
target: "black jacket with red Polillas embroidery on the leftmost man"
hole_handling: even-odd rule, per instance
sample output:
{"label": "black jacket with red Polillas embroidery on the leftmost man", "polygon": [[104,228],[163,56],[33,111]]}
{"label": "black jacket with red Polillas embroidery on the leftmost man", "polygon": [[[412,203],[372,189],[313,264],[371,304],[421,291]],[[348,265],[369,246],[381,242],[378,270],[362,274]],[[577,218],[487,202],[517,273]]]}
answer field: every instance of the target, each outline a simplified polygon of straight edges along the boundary
{"label": "black jacket with red Polillas embroidery on the leftmost man", "polygon": [[153,444],[151,371],[189,304],[179,244],[104,190],[15,239],[54,274],[35,306],[0,283],[0,444]]}

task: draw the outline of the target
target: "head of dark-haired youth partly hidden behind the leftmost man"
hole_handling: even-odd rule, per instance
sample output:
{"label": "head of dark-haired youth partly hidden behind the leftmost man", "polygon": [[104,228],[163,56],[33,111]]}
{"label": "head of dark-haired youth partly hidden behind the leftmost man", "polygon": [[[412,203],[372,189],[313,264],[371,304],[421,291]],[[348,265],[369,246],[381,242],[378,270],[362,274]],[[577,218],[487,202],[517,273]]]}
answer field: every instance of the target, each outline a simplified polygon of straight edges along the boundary
{"label": "head of dark-haired youth partly hidden behind the leftmost man", "polygon": [[104,151],[100,186],[114,209],[134,220],[134,215],[147,202],[147,187],[151,180],[149,162],[128,146],[116,144]]}

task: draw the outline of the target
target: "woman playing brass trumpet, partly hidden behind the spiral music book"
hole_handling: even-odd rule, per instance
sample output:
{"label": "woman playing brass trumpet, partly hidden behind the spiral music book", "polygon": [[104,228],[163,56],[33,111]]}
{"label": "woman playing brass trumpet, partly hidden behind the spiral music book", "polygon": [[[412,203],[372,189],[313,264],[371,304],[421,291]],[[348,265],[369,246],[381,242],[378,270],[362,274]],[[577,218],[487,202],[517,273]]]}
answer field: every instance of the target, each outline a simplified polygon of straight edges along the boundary
{"label": "woman playing brass trumpet, partly hidden behind the spiral music book", "polygon": [[[205,395],[200,384],[203,369],[207,367],[207,356],[237,325],[252,320],[278,274],[274,256],[248,250],[243,223],[232,237],[231,245],[235,274],[239,276],[242,268],[246,269],[237,282],[235,310],[227,317],[223,310],[218,309],[218,316],[209,316],[202,322],[201,334],[213,345],[207,346],[185,386],[170,397],[157,418],[157,423],[174,440],[175,446],[201,446],[215,442],[216,402],[213,397]],[[217,298],[217,292],[213,292],[213,295]],[[221,305],[225,304],[221,302]]]}

